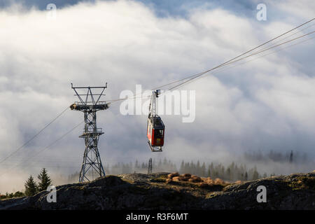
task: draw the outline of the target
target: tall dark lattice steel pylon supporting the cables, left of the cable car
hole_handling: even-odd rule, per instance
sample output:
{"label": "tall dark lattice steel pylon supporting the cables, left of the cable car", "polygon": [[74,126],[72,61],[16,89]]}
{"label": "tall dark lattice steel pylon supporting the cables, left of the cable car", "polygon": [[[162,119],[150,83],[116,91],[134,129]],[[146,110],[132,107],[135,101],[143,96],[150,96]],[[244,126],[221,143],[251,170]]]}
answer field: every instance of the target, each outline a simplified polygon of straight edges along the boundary
{"label": "tall dark lattice steel pylon supporting the cables, left of the cable car", "polygon": [[[97,128],[97,111],[109,109],[108,103],[99,101],[99,99],[104,96],[103,93],[107,88],[107,83],[105,86],[99,87],[73,87],[71,83],[71,88],[76,93],[75,96],[78,97],[80,102],[74,102],[74,104],[70,106],[70,109],[84,113],[85,126],[80,138],[85,139],[85,151],[79,176],[79,183],[83,183],[93,180],[94,174],[96,174],[95,178],[105,176],[102,160],[99,156],[99,149],[97,147],[99,136],[104,134],[102,128]],[[94,90],[99,90],[100,92],[92,92]],[[92,178],[90,177],[91,174]]]}

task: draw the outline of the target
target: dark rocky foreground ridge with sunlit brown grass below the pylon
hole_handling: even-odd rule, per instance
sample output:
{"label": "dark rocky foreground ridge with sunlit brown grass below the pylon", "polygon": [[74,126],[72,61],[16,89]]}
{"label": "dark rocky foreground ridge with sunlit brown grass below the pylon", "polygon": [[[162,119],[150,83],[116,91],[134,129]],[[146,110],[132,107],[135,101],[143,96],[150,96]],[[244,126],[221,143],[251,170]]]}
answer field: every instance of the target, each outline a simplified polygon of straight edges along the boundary
{"label": "dark rocky foreground ridge with sunlit brown grass below the pylon", "polygon": [[[258,186],[267,188],[266,203],[256,200]],[[315,172],[239,184],[167,181],[167,173],[122,174],[58,186],[57,203],[48,203],[47,194],[0,200],[0,209],[315,209]]]}

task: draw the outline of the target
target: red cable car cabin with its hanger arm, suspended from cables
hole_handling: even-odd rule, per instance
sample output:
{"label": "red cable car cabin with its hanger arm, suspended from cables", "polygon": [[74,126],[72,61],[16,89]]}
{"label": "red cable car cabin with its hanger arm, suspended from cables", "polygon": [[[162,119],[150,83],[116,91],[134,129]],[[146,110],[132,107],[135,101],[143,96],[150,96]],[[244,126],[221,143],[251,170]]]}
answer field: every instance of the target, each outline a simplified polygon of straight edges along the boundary
{"label": "red cable car cabin with its hanger arm, suspended from cables", "polygon": [[159,97],[159,94],[160,90],[155,90],[152,92],[148,114],[148,145],[153,152],[162,152],[162,146],[164,146],[165,125],[160,116],[156,114],[156,98]]}

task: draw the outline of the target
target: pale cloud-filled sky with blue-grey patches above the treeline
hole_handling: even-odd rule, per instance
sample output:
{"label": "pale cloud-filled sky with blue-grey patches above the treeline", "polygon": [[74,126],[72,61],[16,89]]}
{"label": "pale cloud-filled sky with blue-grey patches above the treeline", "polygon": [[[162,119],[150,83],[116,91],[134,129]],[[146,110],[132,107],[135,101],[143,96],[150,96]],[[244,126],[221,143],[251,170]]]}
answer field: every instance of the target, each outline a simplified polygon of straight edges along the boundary
{"label": "pale cloud-filled sky with blue-grey patches above the treeline", "polygon": [[[104,99],[116,99],[122,90],[134,92],[136,84],[151,89],[210,69],[315,14],[311,0],[265,1],[267,21],[258,21],[260,1],[224,2],[1,1],[0,158],[76,101],[70,83],[108,82]],[[55,20],[47,18],[48,3],[57,6]],[[148,148],[146,116],[123,116],[120,103],[100,111],[104,164],[150,157],[224,162],[258,150],[293,150],[314,158],[314,43],[311,39],[183,86],[196,91],[195,122],[162,116],[163,153],[152,155]],[[6,183],[21,179],[18,169],[36,174],[46,162],[64,173],[80,169],[83,125],[36,159],[32,156],[82,120],[82,113],[66,111],[3,162]],[[25,158],[30,158],[25,167],[13,168]],[[1,181],[2,189],[12,190]]]}

